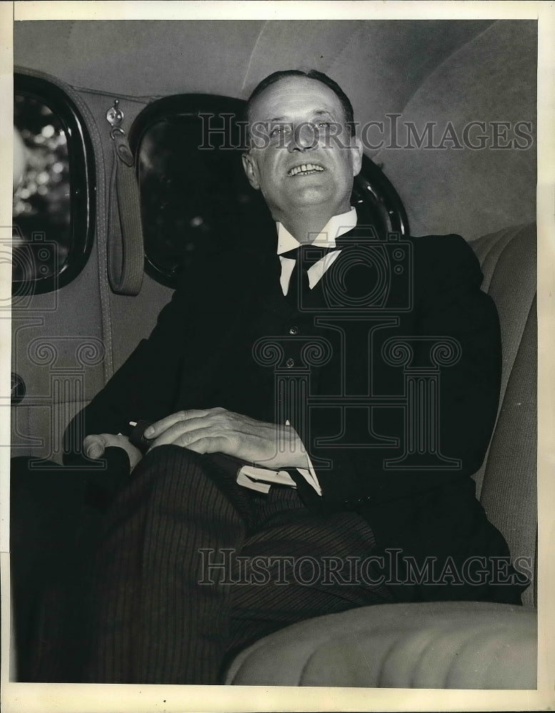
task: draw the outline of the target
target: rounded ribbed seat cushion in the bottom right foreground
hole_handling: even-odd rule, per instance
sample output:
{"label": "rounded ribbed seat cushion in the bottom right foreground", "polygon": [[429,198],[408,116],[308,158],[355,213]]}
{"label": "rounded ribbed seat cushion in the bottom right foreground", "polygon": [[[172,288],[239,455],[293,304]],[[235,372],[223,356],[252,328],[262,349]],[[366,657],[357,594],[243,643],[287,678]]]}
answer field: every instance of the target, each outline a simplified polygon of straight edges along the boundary
{"label": "rounded ribbed seat cushion in the bottom right foreground", "polygon": [[235,685],[535,689],[537,620],[490,602],[360,607],[255,642]]}

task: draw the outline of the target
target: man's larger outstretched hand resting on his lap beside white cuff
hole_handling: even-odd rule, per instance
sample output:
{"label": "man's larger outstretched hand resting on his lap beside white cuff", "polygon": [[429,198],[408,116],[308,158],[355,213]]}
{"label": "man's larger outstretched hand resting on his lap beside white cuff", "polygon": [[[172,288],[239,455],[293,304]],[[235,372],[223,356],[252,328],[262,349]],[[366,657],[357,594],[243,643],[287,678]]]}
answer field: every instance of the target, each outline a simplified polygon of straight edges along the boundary
{"label": "man's larger outstretched hand resting on his lap beside white cuff", "polygon": [[265,468],[308,468],[308,456],[291,426],[266,424],[225,409],[178,411],[145,431],[152,448],[175,446],[196,453],[226,453]]}

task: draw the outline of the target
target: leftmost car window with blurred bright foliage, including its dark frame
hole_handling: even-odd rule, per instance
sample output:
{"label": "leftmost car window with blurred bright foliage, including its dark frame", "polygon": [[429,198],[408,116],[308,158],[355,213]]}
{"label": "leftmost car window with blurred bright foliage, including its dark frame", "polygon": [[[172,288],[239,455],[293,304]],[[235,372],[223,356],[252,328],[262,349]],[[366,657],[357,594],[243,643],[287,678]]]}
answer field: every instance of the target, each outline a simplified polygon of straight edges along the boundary
{"label": "leftmost car window with blurred bright foliage, including its dark frame", "polygon": [[61,88],[22,74],[14,88],[13,292],[51,292],[78,275],[91,250],[93,154]]}

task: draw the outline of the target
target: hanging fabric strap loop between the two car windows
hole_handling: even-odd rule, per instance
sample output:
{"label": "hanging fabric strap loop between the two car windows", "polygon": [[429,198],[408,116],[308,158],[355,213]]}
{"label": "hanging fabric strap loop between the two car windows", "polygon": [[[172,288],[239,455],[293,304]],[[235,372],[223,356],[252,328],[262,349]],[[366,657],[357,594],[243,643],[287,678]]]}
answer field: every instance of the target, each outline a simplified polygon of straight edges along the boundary
{"label": "hanging fabric strap loop between the two car windows", "polygon": [[[123,115],[122,115],[123,116]],[[111,130],[113,170],[110,181],[108,280],[112,292],[135,295],[143,284],[143,226],[135,160],[126,134]]]}

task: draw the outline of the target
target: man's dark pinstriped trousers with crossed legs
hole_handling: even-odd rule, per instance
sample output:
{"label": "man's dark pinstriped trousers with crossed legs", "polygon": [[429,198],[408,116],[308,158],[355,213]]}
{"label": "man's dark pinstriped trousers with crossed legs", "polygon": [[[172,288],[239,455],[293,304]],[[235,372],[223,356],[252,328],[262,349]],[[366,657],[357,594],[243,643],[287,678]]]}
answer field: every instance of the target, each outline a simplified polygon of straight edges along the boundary
{"label": "man's dark pinstriped trousers with crossed legs", "polygon": [[[270,632],[392,601],[352,578],[353,561],[373,552],[357,513],[318,515],[291,488],[238,486],[225,456],[155,448],[108,507],[94,564],[78,575],[63,679],[218,684],[233,656]],[[39,680],[60,675],[48,673],[59,642],[44,645],[56,640],[45,627]]]}

